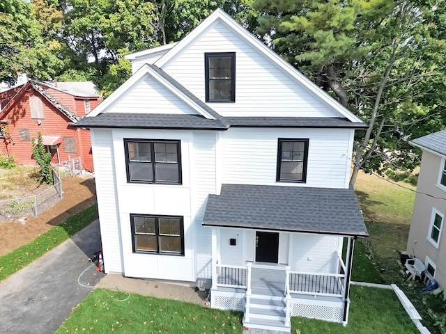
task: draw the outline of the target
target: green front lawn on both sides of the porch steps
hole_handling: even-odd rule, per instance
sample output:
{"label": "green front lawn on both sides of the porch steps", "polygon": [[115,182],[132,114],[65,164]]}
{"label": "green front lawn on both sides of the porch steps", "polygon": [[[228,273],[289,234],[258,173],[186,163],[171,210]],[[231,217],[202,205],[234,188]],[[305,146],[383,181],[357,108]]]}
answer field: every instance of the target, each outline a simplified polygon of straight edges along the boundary
{"label": "green front lawn on both sides of the porch steps", "polygon": [[[242,333],[242,313],[200,305],[94,289],[56,334],[62,333]],[[291,333],[416,334],[392,290],[353,286],[348,326],[292,319]]]}

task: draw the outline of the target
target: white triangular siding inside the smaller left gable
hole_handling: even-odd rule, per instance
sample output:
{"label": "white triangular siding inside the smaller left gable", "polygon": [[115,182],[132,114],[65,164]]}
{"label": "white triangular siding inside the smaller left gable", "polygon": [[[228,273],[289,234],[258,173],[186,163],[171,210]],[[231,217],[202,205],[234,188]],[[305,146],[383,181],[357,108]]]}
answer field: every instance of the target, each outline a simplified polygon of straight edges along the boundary
{"label": "white triangular siding inside the smaller left gable", "polygon": [[124,93],[107,113],[188,113],[196,114],[190,106],[149,74],[139,79]]}

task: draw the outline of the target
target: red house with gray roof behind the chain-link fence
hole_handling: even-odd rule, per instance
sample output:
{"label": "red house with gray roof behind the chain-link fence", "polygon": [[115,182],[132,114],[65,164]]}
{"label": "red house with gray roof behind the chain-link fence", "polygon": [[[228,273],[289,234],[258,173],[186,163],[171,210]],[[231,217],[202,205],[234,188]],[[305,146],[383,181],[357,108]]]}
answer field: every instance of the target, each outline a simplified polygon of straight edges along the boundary
{"label": "red house with gray roof behind the chain-link fence", "polygon": [[90,132],[71,125],[101,100],[90,81],[28,81],[0,93],[0,154],[36,164],[32,143],[40,132],[53,164],[80,157],[82,169],[93,171]]}

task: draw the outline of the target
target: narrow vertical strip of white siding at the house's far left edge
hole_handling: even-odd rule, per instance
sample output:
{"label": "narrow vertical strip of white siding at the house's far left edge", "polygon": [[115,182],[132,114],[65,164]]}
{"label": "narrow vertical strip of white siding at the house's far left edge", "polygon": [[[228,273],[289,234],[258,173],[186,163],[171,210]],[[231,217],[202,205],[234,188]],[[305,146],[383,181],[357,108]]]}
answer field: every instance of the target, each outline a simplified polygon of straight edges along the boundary
{"label": "narrow vertical strip of white siding at the house's far left edge", "polygon": [[114,170],[112,132],[91,129],[95,184],[105,273],[123,273],[123,253]]}

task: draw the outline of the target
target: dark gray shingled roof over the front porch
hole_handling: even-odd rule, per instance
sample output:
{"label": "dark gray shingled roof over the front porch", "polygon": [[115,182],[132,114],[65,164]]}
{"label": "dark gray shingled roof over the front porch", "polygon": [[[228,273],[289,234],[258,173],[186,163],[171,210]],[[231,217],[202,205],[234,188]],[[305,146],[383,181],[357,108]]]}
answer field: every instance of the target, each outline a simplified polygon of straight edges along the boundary
{"label": "dark gray shingled roof over the front porch", "polygon": [[367,237],[353,189],[222,184],[203,225]]}

